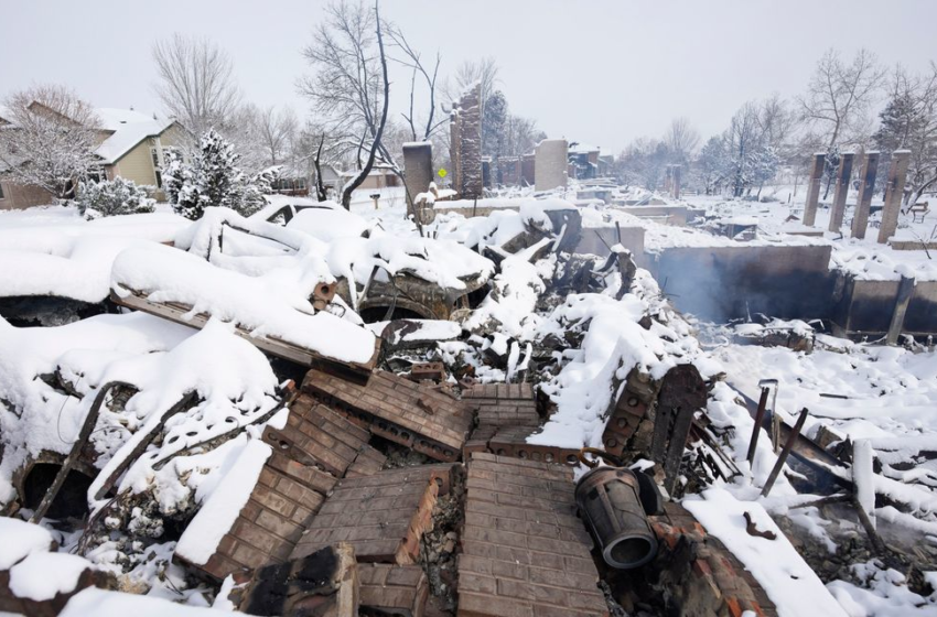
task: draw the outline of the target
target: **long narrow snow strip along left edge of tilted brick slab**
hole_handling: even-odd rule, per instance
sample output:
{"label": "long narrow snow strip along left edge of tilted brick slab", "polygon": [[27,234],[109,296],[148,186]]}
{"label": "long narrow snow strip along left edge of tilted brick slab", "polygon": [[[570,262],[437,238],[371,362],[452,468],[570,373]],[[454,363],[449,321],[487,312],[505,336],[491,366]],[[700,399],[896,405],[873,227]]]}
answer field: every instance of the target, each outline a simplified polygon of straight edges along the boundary
{"label": "long narrow snow strip along left edge of tilted brick slab", "polygon": [[185,528],[175,546],[176,555],[196,564],[208,562],[247,504],[265,463],[272,454],[273,448],[261,441],[247,443],[212,497]]}

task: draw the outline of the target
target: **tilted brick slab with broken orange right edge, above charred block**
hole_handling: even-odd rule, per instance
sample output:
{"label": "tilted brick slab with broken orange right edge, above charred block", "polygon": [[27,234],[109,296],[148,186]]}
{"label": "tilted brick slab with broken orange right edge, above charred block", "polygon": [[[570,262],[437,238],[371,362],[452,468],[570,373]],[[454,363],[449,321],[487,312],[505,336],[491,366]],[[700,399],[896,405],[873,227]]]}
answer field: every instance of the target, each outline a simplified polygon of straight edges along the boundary
{"label": "tilted brick slab with broken orange right edge, above charred block", "polygon": [[420,465],[341,480],[290,559],[347,542],[359,562],[414,563],[420,538],[432,527],[437,497],[449,490],[451,470],[448,464]]}

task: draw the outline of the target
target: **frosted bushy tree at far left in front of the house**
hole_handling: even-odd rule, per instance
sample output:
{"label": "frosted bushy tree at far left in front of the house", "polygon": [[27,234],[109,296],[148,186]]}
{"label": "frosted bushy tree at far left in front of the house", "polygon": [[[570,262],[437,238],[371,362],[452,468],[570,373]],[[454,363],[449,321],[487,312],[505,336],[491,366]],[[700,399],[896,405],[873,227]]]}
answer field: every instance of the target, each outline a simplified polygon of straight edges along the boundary
{"label": "frosted bushy tree at far left in front of the house", "polygon": [[0,170],[17,184],[40,186],[58,198],[100,159],[94,153],[100,120],[90,105],[63,86],[35,86],[10,95],[0,127]]}

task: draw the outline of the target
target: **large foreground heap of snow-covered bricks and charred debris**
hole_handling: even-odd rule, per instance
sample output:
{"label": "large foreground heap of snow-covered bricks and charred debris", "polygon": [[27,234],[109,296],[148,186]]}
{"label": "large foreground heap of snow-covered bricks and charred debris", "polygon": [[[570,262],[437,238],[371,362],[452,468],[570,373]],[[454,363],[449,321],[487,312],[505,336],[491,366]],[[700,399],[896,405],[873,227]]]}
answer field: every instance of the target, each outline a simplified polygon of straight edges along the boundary
{"label": "large foreground heap of snow-covered bricks and charred debris", "polygon": [[[0,505],[37,523],[0,519],[35,537],[0,563],[0,608],[152,599],[120,589],[252,615],[768,616],[790,594],[839,609],[743,499],[778,456],[765,439],[746,461],[761,425],[643,247],[617,228],[607,252],[577,252],[579,206],[507,202],[446,202],[422,236],[327,206],[284,227],[213,208],[97,256],[104,293],[55,292],[114,314],[0,320]],[[800,324],[735,335],[812,350]],[[778,414],[764,425],[800,443]],[[876,470],[897,483],[886,445]],[[851,461],[816,458],[860,484]],[[589,467],[631,488],[578,491]],[[775,478],[771,499],[796,495]],[[772,551],[789,560],[754,564]],[[68,558],[67,584],[17,585],[40,554]]]}

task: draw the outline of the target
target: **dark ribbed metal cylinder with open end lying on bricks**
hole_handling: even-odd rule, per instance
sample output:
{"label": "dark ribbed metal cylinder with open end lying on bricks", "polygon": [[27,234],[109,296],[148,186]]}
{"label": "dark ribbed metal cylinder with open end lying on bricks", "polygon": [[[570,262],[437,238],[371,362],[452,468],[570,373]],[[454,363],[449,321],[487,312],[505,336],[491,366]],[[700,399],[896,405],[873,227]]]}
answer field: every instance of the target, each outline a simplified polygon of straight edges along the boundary
{"label": "dark ribbed metal cylinder with open end lying on bricks", "polygon": [[618,467],[596,467],[575,486],[575,502],[612,567],[640,567],[657,555],[639,490],[637,476]]}

